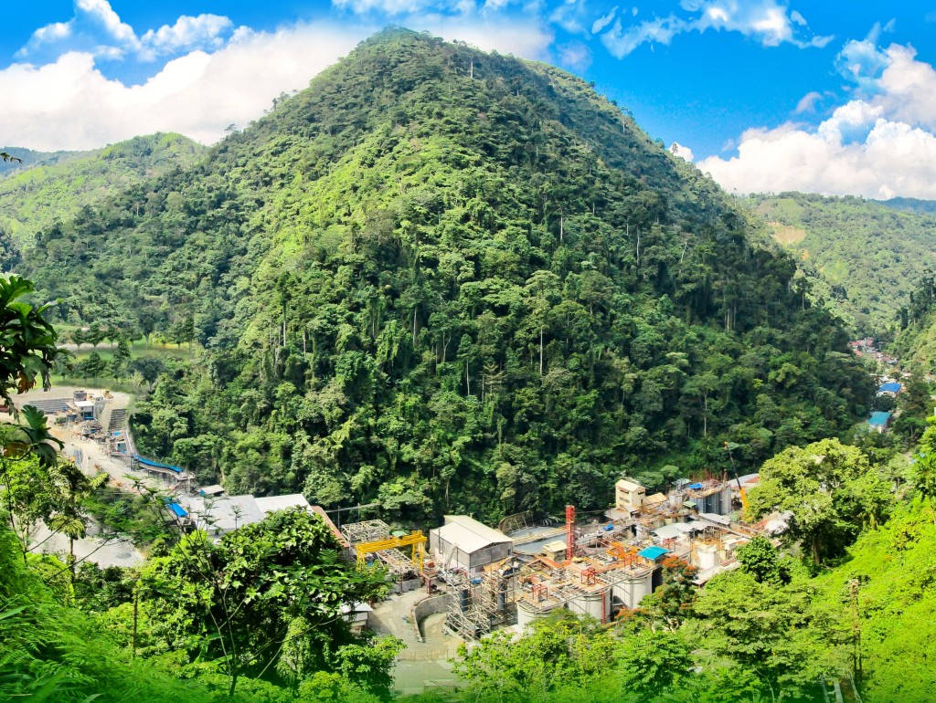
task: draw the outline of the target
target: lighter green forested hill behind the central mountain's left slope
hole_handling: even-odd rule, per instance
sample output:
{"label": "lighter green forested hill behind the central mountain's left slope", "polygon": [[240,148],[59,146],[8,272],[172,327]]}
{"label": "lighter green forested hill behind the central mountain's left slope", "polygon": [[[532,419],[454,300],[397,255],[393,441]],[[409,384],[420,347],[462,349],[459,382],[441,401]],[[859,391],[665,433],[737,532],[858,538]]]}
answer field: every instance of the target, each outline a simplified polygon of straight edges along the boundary
{"label": "lighter green forested hill behind the central mountain's left slope", "polygon": [[156,134],[95,151],[0,151],[22,159],[0,170],[0,234],[22,250],[53,222],[70,220],[140,180],[193,165],[206,150],[182,135]]}

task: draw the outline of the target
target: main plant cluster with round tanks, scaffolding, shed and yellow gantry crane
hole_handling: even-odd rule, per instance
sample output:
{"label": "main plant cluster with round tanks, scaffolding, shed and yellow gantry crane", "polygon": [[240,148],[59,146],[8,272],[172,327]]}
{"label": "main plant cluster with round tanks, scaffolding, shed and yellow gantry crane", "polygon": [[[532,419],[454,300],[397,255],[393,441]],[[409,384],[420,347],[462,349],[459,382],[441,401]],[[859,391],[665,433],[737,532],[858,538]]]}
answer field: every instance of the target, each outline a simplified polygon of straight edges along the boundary
{"label": "main plant cluster with round tanks, scaffolding, shed and yellow gantry crane", "polygon": [[[380,520],[345,524],[341,532],[358,564],[385,567],[396,593],[424,589],[427,611],[444,610],[446,628],[472,640],[503,627],[522,630],[557,609],[611,622],[653,593],[664,568],[676,564],[668,560],[695,567],[700,586],[737,567],[740,545],[782,529],[782,520],[733,520],[756,481],[756,475],[683,480],[666,495],[646,495],[639,483],[622,479],[607,522],[579,522],[568,506],[562,523],[534,524],[519,515],[494,529],[466,515],[446,515],[428,537],[391,532]],[[416,610],[413,627],[421,638]]]}

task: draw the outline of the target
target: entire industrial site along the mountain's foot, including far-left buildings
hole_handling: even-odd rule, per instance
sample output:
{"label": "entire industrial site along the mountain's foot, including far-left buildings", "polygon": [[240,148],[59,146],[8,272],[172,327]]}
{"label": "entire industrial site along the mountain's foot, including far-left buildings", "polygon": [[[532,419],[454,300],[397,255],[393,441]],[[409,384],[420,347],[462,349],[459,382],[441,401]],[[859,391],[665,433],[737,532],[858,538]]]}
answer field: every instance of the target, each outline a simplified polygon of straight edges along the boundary
{"label": "entire industrial site along the mountain's foot, including far-left buildings", "polygon": [[[622,478],[603,520],[579,521],[576,509],[568,506],[564,519],[536,521],[520,513],[496,528],[467,515],[446,515],[444,524],[428,535],[394,530],[379,519],[339,528],[326,510],[311,506],[300,494],[255,497],[226,495],[217,485],[199,489],[182,467],[139,456],[125,404],[105,394],[75,390],[70,397],[42,401],[43,409],[60,418],[58,423],[95,439],[111,458],[167,486],[175,496],[167,499],[167,509],[183,529],[203,529],[218,539],[272,510],[318,513],[348,559],[360,567],[386,570],[391,601],[407,595],[405,602],[412,605],[402,617],[419,642],[425,640],[421,624],[426,617],[441,613],[444,630],[463,640],[504,627],[521,630],[557,609],[608,623],[653,593],[663,582],[664,568],[671,563],[667,560],[695,567],[695,583],[701,586],[737,566],[734,555],[740,545],[784,527],[782,516],[759,525],[733,519],[743,507],[745,491],[757,482],[753,474],[732,481],[681,479],[666,494],[650,495],[639,482]],[[392,610],[393,603],[388,607]],[[348,608],[349,616],[366,626],[366,604]]]}

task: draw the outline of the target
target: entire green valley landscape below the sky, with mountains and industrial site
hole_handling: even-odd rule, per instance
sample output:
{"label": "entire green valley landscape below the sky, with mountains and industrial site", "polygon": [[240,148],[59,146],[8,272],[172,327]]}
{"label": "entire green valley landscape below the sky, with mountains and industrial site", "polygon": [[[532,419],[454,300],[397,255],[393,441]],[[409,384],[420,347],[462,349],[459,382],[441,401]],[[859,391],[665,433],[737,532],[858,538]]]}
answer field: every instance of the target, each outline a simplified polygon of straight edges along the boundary
{"label": "entire green valley landscape below the sky, with mountains and industrial site", "polygon": [[928,698],[931,201],[400,28],[212,146],[4,151],[0,697]]}

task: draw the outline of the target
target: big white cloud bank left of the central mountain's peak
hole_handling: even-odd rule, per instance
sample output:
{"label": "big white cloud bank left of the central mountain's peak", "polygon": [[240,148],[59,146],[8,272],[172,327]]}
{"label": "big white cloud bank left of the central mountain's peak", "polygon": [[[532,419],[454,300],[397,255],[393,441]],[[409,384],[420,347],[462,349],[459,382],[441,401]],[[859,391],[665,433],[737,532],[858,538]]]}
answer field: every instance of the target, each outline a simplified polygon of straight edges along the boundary
{"label": "big white cloud bank left of the central mountain's peak", "polygon": [[211,143],[227,124],[245,124],[283,92],[353,49],[368,28],[302,24],[275,33],[238,33],[224,49],[169,61],[151,79],[128,86],[105,78],[90,52],[68,52],[47,65],[0,70],[0,113],[7,144],[40,150],[90,149],[156,131]]}

